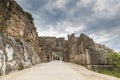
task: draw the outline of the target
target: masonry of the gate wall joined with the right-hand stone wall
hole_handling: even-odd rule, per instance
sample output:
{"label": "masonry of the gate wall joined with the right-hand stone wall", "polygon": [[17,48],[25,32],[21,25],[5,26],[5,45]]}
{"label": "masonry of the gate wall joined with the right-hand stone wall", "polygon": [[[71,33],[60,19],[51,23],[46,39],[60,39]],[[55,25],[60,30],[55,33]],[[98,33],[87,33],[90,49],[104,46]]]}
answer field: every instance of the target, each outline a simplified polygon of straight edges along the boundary
{"label": "masonry of the gate wall joined with the right-hand stone wall", "polygon": [[[75,37],[74,34],[68,35],[68,40],[60,40],[56,37],[40,37],[42,54],[41,59],[47,61],[46,55],[51,55],[53,49],[59,51],[62,48],[63,61],[69,61],[86,66],[92,70],[99,70],[112,67],[107,61],[107,54],[112,51],[104,45],[97,44],[85,34]],[[42,42],[43,41],[43,42]],[[55,46],[59,44],[59,46]],[[63,46],[60,46],[60,45]],[[44,58],[43,58],[44,57]],[[52,57],[52,56],[51,56]]]}

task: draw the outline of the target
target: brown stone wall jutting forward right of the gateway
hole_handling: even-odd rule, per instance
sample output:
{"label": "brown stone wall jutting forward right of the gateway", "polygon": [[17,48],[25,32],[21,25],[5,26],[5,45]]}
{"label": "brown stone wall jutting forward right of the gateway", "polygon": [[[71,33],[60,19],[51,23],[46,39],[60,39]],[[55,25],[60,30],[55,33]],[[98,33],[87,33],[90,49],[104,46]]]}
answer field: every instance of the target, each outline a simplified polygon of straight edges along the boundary
{"label": "brown stone wall jutting forward right of the gateway", "polygon": [[68,42],[70,62],[85,65],[93,70],[108,66],[107,54],[111,49],[95,43],[85,34],[81,34],[80,37],[72,34]]}

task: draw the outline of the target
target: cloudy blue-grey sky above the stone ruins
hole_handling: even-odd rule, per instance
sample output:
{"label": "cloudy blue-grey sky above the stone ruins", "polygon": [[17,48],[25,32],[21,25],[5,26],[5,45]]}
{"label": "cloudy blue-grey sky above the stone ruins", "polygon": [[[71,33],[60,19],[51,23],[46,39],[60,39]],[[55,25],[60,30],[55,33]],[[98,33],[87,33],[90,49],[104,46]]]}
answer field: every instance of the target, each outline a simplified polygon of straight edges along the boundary
{"label": "cloudy blue-grey sky above the stone ruins", "polygon": [[32,14],[39,36],[88,35],[120,52],[120,0],[16,0]]}

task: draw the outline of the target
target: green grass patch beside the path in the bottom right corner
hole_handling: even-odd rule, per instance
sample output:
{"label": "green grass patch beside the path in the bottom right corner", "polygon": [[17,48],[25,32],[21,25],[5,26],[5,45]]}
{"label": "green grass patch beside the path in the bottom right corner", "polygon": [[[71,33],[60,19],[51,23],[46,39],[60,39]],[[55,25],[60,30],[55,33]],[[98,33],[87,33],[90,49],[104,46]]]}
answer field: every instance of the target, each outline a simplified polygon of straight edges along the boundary
{"label": "green grass patch beside the path in the bottom right corner", "polygon": [[120,78],[120,70],[118,70],[118,69],[101,70],[100,73]]}

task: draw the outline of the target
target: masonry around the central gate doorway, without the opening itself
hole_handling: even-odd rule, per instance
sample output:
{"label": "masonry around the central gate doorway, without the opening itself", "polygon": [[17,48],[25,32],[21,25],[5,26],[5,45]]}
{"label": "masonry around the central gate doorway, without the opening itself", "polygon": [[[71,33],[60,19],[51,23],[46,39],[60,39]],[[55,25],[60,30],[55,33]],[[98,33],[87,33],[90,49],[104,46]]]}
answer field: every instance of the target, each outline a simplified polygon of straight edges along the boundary
{"label": "masonry around the central gate doorway, without the opening itself", "polygon": [[[56,37],[39,37],[40,46],[41,49],[41,61],[46,62],[47,61],[47,55],[50,55],[50,58],[52,59],[52,52],[53,51],[62,51],[63,56],[66,56],[65,46],[66,41],[63,37],[56,38]],[[64,57],[65,59],[66,57]]]}

